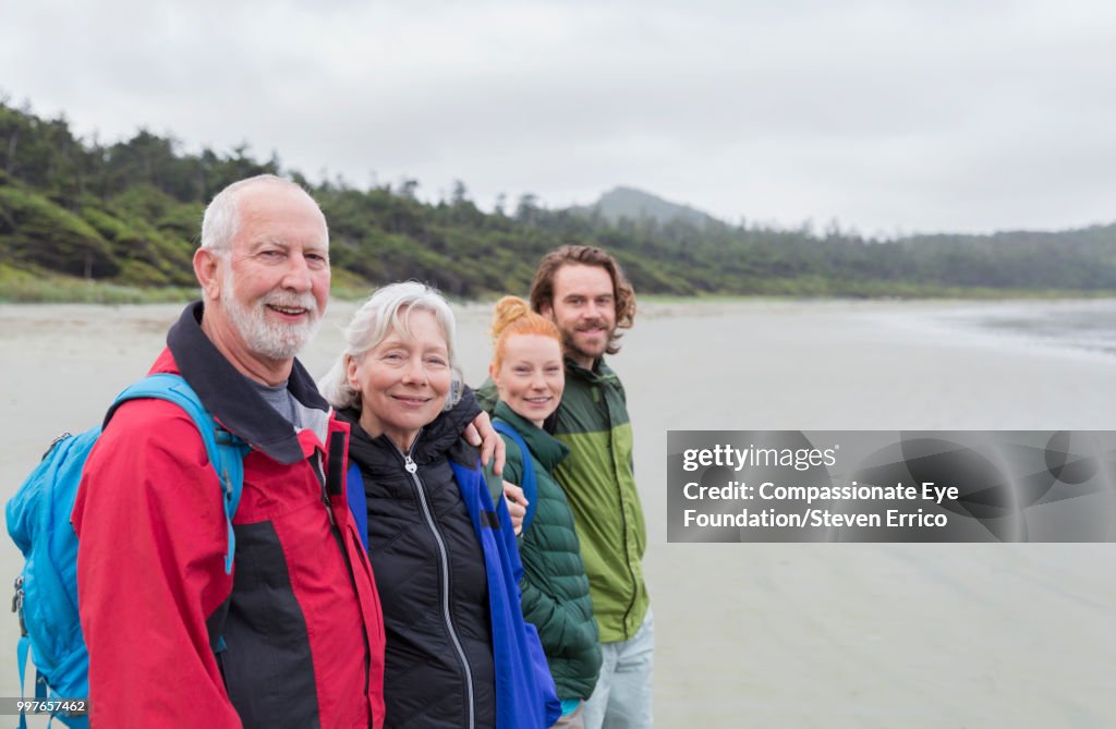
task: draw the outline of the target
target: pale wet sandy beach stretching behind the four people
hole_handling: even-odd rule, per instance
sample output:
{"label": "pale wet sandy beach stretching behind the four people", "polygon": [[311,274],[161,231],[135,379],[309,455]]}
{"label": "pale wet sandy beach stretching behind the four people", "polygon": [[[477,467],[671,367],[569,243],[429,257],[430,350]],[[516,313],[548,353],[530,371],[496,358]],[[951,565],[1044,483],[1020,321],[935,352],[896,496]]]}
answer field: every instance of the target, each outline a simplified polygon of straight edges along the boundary
{"label": "pale wet sandy beach stretching behind the four people", "polygon": [[[1113,430],[1116,356],[982,316],[1116,303],[655,303],[610,359],[636,434],[660,727],[1116,726],[1112,545],[666,543],[668,430]],[[1090,308],[1091,307],[1091,308]],[[302,357],[320,375],[353,304]],[[99,421],[179,306],[0,306],[7,500],[51,439]],[[489,307],[456,307],[469,382]],[[21,564],[8,539],[0,584]],[[7,594],[7,593],[3,593]],[[18,625],[0,621],[0,694]],[[3,656],[10,656],[4,660]]]}

